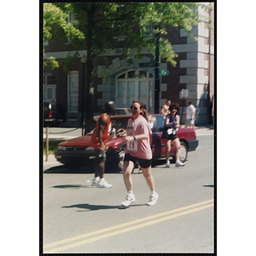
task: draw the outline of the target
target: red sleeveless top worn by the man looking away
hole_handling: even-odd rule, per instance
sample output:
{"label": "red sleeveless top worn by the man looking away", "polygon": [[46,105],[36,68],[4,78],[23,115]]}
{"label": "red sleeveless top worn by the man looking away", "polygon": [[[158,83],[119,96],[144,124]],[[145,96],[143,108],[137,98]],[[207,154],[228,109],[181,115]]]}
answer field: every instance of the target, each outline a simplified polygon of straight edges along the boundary
{"label": "red sleeveless top worn by the man looking away", "polygon": [[96,129],[93,132],[92,136],[90,137],[90,146],[92,148],[101,148],[101,144],[99,142],[99,137],[98,137],[98,131],[99,131],[99,120],[106,116],[107,117],[107,125],[105,126],[104,130],[102,131],[102,143],[103,143],[103,147],[106,149],[106,142],[108,141],[108,137],[111,131],[111,119],[108,117],[107,113],[102,113],[101,116],[99,117],[99,119],[97,120],[96,123]]}

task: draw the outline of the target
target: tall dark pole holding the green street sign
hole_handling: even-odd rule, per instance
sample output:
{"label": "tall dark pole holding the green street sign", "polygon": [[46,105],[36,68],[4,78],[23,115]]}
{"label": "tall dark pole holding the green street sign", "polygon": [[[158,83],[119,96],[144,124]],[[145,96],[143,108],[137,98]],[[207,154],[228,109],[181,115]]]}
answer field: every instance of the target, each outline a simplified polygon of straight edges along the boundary
{"label": "tall dark pole holding the green street sign", "polygon": [[160,67],[159,67],[159,39],[160,39],[160,24],[156,26],[158,30],[155,41],[155,68],[154,68],[154,113],[160,111]]}

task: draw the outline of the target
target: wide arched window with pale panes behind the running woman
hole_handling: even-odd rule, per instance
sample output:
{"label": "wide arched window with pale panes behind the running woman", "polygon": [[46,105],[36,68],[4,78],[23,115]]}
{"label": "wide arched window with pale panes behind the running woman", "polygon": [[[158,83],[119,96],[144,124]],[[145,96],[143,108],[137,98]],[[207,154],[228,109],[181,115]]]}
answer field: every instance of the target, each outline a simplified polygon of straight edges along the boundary
{"label": "wide arched window with pale panes behind the running woman", "polygon": [[117,108],[129,108],[132,101],[142,101],[149,113],[154,112],[154,76],[142,70],[129,70],[116,76]]}

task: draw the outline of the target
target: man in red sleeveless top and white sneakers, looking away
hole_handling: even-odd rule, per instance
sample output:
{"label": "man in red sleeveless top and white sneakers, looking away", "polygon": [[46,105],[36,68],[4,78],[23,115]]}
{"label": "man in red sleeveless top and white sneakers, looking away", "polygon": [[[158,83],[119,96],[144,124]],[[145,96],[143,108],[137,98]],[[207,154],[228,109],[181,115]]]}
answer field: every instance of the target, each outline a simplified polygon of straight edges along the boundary
{"label": "man in red sleeveless top and white sneakers, looking away", "polygon": [[95,177],[91,183],[92,186],[98,188],[109,189],[112,187],[104,179],[105,163],[106,163],[106,142],[111,131],[111,119],[109,116],[113,114],[115,109],[114,102],[106,102],[105,111],[102,113],[96,123],[96,129],[90,138],[90,145],[95,148],[96,164],[95,164]]}

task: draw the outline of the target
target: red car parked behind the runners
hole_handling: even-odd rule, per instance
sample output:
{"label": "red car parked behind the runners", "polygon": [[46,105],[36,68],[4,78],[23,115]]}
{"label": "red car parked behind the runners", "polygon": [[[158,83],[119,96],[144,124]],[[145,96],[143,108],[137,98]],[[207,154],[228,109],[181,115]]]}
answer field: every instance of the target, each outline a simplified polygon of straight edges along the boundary
{"label": "red car parked behind the runners", "polygon": [[[111,169],[118,169],[122,171],[125,157],[125,148],[118,152],[116,148],[122,142],[122,137],[125,136],[125,128],[127,121],[131,115],[111,116],[112,129],[114,128],[116,134],[111,134],[108,138],[108,150],[106,168],[111,166]],[[161,139],[162,132],[165,130],[166,117],[162,114],[150,114],[149,126],[152,130],[151,148],[153,153],[153,160],[166,156],[166,147],[164,141]],[[88,132],[85,136],[77,137],[65,142],[59,143],[57,151],[55,151],[56,160],[60,161],[70,167],[86,166],[88,160],[95,158],[94,148],[90,147],[90,136],[93,131]],[[180,160],[184,162],[187,160],[188,152],[194,151],[198,146],[198,140],[195,136],[195,130],[189,128],[179,128],[177,137],[181,143]],[[174,156],[175,147],[172,146],[171,155]]]}

